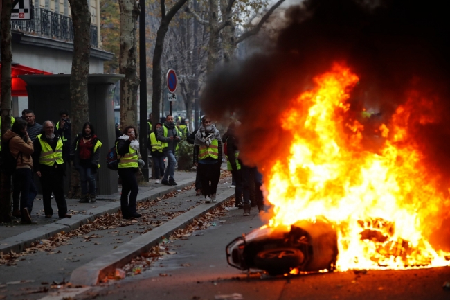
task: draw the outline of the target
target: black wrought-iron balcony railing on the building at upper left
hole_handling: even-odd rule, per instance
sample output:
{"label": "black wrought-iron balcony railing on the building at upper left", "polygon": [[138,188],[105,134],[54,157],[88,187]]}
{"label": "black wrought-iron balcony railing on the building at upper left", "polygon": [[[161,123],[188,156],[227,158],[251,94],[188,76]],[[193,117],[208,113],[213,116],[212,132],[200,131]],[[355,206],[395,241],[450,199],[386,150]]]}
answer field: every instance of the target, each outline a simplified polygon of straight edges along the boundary
{"label": "black wrought-iron balcony railing on the building at upper left", "polygon": [[[72,18],[45,10],[34,8],[33,19],[26,21],[12,20],[11,29],[18,29],[27,33],[73,42]],[[98,48],[98,29],[91,24],[91,47]]]}

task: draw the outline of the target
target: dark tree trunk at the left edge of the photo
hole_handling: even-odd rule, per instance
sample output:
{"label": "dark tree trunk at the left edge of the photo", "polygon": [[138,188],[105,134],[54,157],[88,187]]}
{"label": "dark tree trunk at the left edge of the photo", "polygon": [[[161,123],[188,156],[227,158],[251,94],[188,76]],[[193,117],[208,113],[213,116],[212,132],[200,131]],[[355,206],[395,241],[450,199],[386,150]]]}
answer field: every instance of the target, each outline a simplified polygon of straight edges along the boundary
{"label": "dark tree trunk at the left edge of the photo", "polygon": [[[1,136],[11,127],[11,10],[12,1],[2,0],[1,10]],[[3,139],[1,139],[3,144]],[[0,174],[0,222],[11,222],[11,176]]]}

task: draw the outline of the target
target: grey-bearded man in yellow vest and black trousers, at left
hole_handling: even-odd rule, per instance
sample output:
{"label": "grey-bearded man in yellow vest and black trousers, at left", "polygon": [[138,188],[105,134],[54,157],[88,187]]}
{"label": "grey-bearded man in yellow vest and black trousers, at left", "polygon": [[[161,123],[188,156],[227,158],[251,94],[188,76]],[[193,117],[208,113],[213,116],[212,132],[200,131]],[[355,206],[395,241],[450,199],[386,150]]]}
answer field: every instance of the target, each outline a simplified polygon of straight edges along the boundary
{"label": "grey-bearded man in yellow vest and black trousers, at left", "polygon": [[45,218],[51,218],[51,194],[55,195],[60,218],[71,218],[67,213],[67,203],[64,197],[64,175],[66,166],[63,159],[63,144],[60,136],[55,134],[55,123],[45,121],[42,125],[43,134],[38,134],[33,143],[33,165],[35,173],[41,179],[42,202],[44,202]]}

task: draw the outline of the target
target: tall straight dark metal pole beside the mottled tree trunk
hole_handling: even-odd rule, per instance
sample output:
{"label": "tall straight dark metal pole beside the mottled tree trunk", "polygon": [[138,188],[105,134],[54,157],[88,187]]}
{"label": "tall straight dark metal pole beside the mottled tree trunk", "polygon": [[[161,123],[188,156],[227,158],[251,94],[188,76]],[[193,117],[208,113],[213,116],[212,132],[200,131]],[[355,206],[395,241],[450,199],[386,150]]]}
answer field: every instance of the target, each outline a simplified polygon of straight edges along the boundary
{"label": "tall straight dark metal pole beside the mottled tree trunk", "polygon": [[[148,182],[148,154],[147,154],[147,143],[148,134],[147,132],[147,58],[145,57],[145,0],[139,0],[139,6],[141,6],[141,14],[139,15],[139,76],[141,78],[141,84],[139,85],[139,107],[141,119],[139,131],[139,143],[141,144],[141,157],[145,163],[142,168],[142,174],[146,182]],[[156,125],[156,124],[155,124]]]}

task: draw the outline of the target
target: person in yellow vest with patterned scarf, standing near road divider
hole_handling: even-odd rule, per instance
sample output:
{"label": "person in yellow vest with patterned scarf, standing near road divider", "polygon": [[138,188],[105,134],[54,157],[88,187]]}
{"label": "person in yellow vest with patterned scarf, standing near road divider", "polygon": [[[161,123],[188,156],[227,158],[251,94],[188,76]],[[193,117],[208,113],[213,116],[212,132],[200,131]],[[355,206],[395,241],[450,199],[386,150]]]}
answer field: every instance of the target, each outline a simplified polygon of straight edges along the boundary
{"label": "person in yellow vest with patterned scarf, standing near road divider", "polygon": [[222,164],[222,142],[219,130],[208,116],[201,118],[201,126],[195,134],[194,164],[198,168],[201,191],[205,202],[216,202],[217,184]]}

